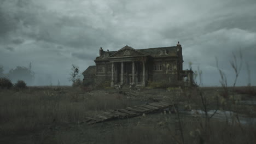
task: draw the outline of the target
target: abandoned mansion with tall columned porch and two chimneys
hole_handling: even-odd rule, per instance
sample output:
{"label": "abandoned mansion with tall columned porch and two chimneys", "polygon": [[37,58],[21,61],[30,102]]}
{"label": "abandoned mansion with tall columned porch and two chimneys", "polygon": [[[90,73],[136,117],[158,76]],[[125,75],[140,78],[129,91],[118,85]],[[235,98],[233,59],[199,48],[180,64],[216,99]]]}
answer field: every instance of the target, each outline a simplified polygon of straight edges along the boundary
{"label": "abandoned mansion with tall columned porch and two chimneys", "polygon": [[104,51],[84,72],[84,82],[108,83],[109,86],[147,86],[150,82],[171,86],[192,84],[191,70],[183,70],[182,46],[133,49],[125,46],[118,51]]}

